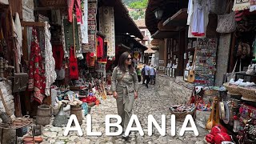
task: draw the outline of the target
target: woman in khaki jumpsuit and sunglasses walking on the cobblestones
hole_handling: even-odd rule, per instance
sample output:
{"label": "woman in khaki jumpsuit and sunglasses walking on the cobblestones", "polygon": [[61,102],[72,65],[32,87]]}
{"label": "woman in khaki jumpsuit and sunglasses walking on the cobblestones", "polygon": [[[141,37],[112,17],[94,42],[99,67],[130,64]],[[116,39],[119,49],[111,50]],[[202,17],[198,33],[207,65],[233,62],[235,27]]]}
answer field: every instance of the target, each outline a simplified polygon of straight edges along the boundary
{"label": "woman in khaki jumpsuit and sunglasses walking on the cobblestones", "polygon": [[134,99],[138,98],[138,76],[131,64],[131,54],[122,53],[111,78],[113,97],[117,101],[118,115],[122,118],[122,136],[125,138],[128,137],[124,132],[132,115]]}

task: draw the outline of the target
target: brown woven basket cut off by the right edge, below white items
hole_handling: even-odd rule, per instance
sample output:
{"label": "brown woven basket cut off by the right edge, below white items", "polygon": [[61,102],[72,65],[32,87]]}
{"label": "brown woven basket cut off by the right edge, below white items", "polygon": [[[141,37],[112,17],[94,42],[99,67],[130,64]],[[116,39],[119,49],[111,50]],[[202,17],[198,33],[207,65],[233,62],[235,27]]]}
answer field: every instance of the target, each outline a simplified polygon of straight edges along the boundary
{"label": "brown woven basket cut off by the right edge, below white items", "polygon": [[242,100],[256,102],[256,90],[239,87],[238,89],[242,94]]}

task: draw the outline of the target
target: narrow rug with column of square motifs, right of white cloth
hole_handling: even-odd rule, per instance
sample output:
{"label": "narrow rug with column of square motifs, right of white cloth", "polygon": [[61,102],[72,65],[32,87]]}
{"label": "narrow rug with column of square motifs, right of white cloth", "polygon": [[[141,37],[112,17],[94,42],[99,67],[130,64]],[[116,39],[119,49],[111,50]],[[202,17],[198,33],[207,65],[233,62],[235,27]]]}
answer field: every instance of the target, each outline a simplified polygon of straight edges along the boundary
{"label": "narrow rug with column of square motifs, right of white cloth", "polygon": [[88,44],[82,45],[82,53],[96,54],[97,0],[88,0]]}

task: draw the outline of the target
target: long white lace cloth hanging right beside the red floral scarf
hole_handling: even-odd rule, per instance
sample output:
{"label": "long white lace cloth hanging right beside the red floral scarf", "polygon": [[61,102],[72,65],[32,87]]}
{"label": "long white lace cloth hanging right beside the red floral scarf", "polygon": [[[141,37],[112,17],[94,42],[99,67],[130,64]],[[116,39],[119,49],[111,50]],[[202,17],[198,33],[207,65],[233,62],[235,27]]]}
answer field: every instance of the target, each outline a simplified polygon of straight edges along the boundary
{"label": "long white lace cloth hanging right beside the red floral scarf", "polygon": [[54,83],[57,78],[55,72],[55,60],[53,57],[53,50],[50,43],[50,25],[48,22],[45,22],[45,53],[46,53],[46,96],[50,96],[50,86]]}

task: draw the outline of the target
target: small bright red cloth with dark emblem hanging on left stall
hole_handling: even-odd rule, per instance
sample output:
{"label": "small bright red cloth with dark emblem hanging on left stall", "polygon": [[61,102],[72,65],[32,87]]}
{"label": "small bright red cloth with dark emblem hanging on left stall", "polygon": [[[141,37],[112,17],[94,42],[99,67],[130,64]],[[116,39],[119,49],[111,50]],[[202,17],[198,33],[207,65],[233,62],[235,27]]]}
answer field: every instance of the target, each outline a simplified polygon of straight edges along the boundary
{"label": "small bright red cloth with dark emblem hanging on left stall", "polygon": [[74,57],[74,47],[70,47],[70,79],[78,79],[78,59]]}

